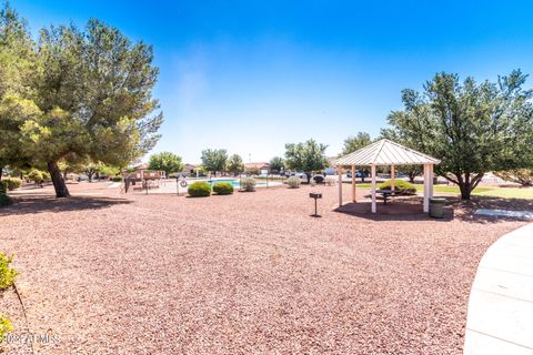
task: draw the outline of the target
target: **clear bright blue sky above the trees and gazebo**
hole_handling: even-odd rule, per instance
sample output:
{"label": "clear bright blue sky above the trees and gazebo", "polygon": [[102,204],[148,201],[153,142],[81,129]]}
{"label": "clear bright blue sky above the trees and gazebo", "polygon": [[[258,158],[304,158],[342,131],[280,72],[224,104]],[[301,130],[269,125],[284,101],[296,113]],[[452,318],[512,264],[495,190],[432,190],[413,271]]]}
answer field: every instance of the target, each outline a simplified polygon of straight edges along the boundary
{"label": "clear bright blue sky above the trees and gazebo", "polygon": [[10,3],[33,32],[94,17],[153,44],[165,116],[154,152],[193,163],[205,148],[265,161],[310,138],[335,155],[436,72],[533,73],[531,1]]}

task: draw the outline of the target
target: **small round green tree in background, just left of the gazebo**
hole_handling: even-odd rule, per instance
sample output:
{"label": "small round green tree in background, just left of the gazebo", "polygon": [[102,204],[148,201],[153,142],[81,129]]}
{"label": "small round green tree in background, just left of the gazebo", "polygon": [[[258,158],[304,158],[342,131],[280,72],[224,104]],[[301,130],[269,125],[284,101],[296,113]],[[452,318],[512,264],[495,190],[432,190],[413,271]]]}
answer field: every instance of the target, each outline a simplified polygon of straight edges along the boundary
{"label": "small round green tree in background, just left of the gazebo", "polygon": [[326,148],[326,144],[316,143],[314,140],[288,143],[285,144],[285,163],[290,169],[304,172],[309,183],[313,171],[323,170],[328,165]]}

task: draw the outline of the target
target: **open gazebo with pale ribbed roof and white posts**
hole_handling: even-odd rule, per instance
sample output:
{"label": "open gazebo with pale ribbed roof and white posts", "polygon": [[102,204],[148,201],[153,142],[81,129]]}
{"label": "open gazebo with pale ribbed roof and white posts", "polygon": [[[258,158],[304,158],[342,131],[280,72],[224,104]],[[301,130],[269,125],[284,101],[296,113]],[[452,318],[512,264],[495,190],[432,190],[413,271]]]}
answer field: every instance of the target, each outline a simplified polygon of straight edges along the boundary
{"label": "open gazebo with pale ribbed roof and white posts", "polygon": [[372,213],[376,212],[375,168],[391,166],[391,190],[394,191],[395,165],[424,165],[424,212],[430,210],[433,196],[433,165],[441,161],[389,140],[380,140],[353,153],[341,156],[334,164],[339,173],[339,206],[342,206],[342,170],[352,168],[352,201],[355,201],[355,166],[370,166],[372,174]]}

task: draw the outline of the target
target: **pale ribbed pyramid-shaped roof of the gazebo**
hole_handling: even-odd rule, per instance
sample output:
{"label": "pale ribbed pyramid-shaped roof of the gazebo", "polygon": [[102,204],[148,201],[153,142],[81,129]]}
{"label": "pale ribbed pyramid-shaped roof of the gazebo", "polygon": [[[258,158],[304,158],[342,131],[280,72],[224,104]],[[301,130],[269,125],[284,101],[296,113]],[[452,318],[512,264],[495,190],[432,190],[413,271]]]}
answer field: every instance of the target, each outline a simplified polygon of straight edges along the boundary
{"label": "pale ribbed pyramid-shaped roof of the gazebo", "polygon": [[335,165],[422,165],[441,161],[389,140],[380,140],[335,160]]}

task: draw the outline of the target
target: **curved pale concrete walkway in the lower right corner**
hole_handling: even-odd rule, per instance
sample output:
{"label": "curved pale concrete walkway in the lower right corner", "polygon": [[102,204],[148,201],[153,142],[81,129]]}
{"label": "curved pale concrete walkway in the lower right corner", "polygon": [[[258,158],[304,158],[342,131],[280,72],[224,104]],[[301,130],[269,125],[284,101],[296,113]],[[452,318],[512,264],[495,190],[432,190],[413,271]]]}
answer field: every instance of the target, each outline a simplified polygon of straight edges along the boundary
{"label": "curved pale concrete walkway in the lower right corner", "polygon": [[464,355],[533,355],[533,223],[486,251],[469,301]]}

